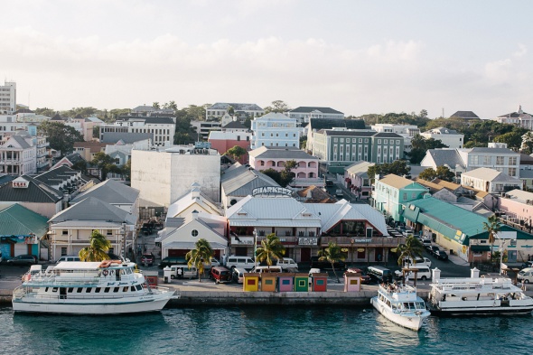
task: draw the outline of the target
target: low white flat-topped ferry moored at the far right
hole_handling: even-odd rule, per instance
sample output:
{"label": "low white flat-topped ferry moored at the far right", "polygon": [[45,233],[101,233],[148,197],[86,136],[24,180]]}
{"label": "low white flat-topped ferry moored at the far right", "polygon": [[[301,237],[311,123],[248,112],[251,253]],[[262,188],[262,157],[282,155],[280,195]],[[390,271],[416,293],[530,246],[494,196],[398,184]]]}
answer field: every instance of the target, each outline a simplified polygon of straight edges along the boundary
{"label": "low white flat-topped ferry moored at the far right", "polygon": [[531,313],[533,298],[512,285],[504,276],[480,277],[473,268],[471,277],[440,278],[440,270],[433,270],[428,307],[432,313],[445,314],[510,314]]}

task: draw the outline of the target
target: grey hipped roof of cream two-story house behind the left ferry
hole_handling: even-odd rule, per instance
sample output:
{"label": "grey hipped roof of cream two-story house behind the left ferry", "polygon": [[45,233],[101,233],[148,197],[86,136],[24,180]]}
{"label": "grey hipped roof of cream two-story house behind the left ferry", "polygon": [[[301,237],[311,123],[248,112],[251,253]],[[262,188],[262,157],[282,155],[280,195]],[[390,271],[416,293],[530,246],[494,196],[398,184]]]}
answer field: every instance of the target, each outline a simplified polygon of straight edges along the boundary
{"label": "grey hipped roof of cream two-story house behind the left ferry", "polygon": [[101,220],[115,223],[126,221],[128,224],[136,223],[135,218],[126,212],[126,210],[119,209],[94,197],[88,197],[66,210],[61,210],[61,212],[51,218],[50,222],[59,223],[69,220]]}

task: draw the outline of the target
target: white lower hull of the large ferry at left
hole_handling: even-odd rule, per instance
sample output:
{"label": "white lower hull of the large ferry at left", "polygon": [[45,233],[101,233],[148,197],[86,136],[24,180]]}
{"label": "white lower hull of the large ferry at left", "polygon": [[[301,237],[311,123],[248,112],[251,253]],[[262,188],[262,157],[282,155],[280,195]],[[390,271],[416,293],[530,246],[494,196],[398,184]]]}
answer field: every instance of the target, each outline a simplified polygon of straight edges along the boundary
{"label": "white lower hull of the large ferry at left", "polygon": [[[65,302],[39,302],[34,299],[13,301],[14,312],[21,313],[62,313],[62,314],[126,314],[161,311],[168,303],[172,293],[161,294],[152,300],[94,300],[94,303],[65,300]],[[98,302],[101,301],[101,302]]]}

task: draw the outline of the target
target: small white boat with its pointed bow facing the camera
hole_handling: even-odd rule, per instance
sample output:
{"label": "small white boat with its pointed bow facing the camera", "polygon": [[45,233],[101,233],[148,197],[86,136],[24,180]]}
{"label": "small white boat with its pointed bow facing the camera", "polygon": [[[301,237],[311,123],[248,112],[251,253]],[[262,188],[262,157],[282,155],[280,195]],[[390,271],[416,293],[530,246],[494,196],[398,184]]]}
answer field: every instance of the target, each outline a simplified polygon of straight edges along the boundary
{"label": "small white boat with its pointed bow facing the camera", "polygon": [[409,285],[381,284],[370,303],[388,320],[413,331],[418,331],[431,314],[425,309],[424,300],[416,295],[416,288]]}

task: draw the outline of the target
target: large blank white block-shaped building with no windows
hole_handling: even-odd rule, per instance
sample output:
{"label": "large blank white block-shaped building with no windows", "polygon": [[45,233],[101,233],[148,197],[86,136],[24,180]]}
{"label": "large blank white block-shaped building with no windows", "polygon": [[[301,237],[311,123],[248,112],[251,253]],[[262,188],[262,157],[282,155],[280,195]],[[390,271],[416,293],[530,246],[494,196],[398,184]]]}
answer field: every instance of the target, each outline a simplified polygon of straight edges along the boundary
{"label": "large blank white block-shaped building with no windows", "polygon": [[198,182],[212,201],[220,201],[220,154],[214,149],[174,145],[133,150],[131,187],[140,192],[141,206],[168,207]]}

